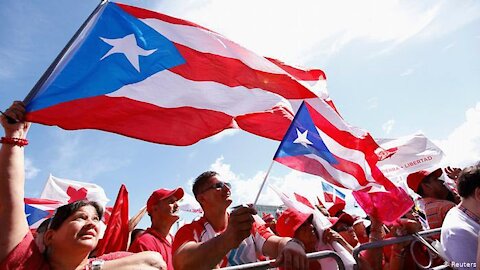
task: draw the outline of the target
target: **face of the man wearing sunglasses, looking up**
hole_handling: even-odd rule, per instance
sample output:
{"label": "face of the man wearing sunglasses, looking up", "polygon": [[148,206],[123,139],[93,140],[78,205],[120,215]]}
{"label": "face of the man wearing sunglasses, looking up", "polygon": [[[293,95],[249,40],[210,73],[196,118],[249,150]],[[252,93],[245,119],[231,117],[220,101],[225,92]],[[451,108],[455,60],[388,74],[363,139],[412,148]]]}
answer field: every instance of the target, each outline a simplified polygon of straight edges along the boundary
{"label": "face of the man wearing sunglasses, looking up", "polygon": [[227,209],[232,203],[230,195],[230,184],[221,181],[217,176],[212,176],[198,196],[201,198],[202,207],[225,207]]}

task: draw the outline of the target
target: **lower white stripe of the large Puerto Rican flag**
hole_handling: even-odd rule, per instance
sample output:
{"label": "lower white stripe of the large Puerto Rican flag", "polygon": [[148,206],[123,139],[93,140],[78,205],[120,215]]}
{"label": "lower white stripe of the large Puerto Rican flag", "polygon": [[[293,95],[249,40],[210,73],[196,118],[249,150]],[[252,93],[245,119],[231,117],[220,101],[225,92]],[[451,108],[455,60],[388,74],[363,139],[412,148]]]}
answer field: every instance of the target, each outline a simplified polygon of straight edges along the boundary
{"label": "lower white stripe of the large Puerto Rican flag", "polygon": [[221,111],[230,116],[261,112],[275,106],[292,111],[286,99],[268,91],[229,87],[211,81],[190,81],[168,70],[136,84],[125,85],[107,96],[127,97],[162,108],[193,107]]}

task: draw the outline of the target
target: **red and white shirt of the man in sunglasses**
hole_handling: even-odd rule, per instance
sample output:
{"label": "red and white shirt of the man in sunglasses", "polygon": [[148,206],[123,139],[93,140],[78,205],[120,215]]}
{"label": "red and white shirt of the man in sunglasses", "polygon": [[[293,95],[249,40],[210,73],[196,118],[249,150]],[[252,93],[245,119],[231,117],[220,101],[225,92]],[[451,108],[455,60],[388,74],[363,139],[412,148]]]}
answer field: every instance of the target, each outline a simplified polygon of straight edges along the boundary
{"label": "red and white shirt of the man in sunglasses", "polygon": [[[172,252],[175,254],[177,249],[187,242],[203,243],[220,233],[222,232],[215,232],[212,225],[202,217],[178,230],[173,241]],[[230,250],[218,265],[226,267],[256,262],[258,255],[262,254],[263,244],[272,235],[272,231],[264,224],[254,222],[250,236],[245,238],[236,249]]]}

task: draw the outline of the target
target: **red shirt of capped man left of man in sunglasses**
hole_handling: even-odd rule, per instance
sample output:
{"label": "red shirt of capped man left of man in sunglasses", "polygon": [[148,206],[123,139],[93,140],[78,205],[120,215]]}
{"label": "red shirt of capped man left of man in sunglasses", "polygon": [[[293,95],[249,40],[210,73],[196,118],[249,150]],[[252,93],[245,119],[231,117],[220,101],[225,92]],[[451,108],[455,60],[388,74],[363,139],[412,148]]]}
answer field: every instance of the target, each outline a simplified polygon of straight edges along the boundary
{"label": "red shirt of capped man left of man in sunglasses", "polygon": [[[173,239],[172,235],[169,236]],[[167,269],[173,270],[172,244],[152,228],[148,228],[142,235],[137,237],[128,248],[128,251],[134,253],[149,250],[160,253],[167,264]]]}

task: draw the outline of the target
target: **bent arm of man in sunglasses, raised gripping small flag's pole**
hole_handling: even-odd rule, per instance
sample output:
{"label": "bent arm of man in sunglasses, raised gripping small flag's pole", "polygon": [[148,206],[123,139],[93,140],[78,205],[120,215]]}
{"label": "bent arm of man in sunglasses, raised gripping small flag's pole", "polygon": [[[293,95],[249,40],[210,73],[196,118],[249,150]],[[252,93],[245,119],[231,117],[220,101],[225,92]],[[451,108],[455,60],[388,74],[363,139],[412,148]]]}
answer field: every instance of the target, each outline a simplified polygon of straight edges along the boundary
{"label": "bent arm of man in sunglasses, raised gripping small flag's pole", "polygon": [[[238,247],[250,235],[254,214],[256,211],[249,207],[235,209],[230,214],[227,229],[223,233],[203,243],[195,241],[183,243],[173,254],[175,269],[214,268],[230,250]],[[179,231],[177,235],[181,233]]]}

